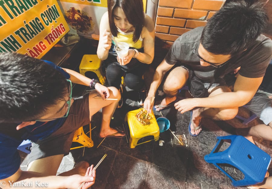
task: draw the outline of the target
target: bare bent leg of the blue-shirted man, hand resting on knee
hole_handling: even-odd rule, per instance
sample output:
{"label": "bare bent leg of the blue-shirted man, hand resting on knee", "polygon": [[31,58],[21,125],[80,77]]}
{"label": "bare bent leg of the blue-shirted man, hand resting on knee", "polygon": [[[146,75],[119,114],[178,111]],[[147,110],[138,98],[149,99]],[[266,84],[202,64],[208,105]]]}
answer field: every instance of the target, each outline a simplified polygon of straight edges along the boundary
{"label": "bare bent leg of the blue-shirted man, hand resting on knee", "polygon": [[[90,112],[90,120],[92,115],[98,112],[102,108],[102,122],[101,122],[101,130],[100,137],[105,137],[111,135],[113,133],[118,132],[115,129],[110,127],[110,121],[112,119],[112,115],[115,111],[115,108],[121,98],[120,92],[115,87],[109,87],[110,96],[108,98],[118,99],[118,100],[102,100],[93,98],[97,95],[96,92],[89,94],[89,112]],[[123,133],[117,133],[116,136],[124,136]]]}

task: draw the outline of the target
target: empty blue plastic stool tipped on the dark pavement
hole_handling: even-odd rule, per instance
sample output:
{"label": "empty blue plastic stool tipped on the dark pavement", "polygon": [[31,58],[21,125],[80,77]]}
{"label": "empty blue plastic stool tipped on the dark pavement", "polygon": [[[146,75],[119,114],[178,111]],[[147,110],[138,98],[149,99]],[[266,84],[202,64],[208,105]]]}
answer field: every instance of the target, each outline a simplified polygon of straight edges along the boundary
{"label": "empty blue plastic stool tipped on the dark pavement", "polygon": [[[206,162],[214,164],[225,173],[232,180],[233,186],[254,185],[264,180],[264,176],[271,161],[271,157],[266,152],[243,136],[219,136],[217,139],[219,139],[219,141],[216,143],[212,152],[205,155],[204,159]],[[231,140],[231,144],[225,151],[215,152],[221,140]],[[244,179],[235,180],[218,164],[229,164],[234,166],[244,174]]]}

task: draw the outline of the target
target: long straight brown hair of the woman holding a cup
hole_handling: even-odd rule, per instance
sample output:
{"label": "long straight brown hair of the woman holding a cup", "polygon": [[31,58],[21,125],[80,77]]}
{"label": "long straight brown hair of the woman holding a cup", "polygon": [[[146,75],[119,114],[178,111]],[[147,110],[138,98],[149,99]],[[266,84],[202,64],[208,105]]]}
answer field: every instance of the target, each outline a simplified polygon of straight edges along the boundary
{"label": "long straight brown hair of the woman holding a cup", "polygon": [[119,34],[115,24],[113,10],[120,7],[128,22],[134,26],[133,41],[136,42],[140,36],[144,25],[144,8],[142,0],[108,0],[108,21],[111,33],[114,37]]}

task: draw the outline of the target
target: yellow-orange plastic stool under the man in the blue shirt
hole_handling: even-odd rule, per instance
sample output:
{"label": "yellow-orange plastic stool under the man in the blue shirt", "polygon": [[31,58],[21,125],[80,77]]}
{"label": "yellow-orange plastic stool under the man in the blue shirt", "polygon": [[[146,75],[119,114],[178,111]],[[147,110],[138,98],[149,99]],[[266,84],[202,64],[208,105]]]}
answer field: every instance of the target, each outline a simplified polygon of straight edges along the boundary
{"label": "yellow-orange plastic stool under the man in the blue shirt", "polygon": [[91,138],[91,124],[90,124],[90,137],[88,137],[84,133],[83,127],[80,127],[74,133],[73,142],[78,142],[78,143],[82,144],[83,146],[77,146],[74,148],[70,148],[70,150],[73,150],[76,148],[82,148],[82,147],[87,147],[87,148],[93,147],[93,141]]}

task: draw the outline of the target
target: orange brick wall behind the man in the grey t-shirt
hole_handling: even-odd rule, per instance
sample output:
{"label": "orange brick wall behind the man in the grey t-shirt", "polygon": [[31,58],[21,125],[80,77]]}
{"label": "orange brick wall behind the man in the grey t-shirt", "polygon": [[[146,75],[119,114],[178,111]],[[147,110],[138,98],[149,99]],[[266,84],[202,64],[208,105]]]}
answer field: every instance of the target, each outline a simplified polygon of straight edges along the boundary
{"label": "orange brick wall behind the man in the grey t-shirt", "polygon": [[[225,0],[159,0],[155,24],[157,41],[169,48],[181,34],[205,26]],[[159,43],[161,44],[161,43]]]}

